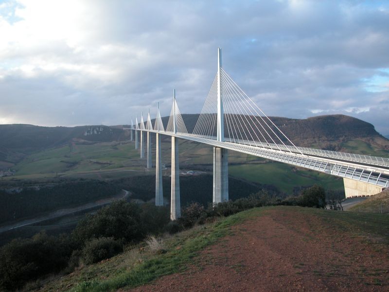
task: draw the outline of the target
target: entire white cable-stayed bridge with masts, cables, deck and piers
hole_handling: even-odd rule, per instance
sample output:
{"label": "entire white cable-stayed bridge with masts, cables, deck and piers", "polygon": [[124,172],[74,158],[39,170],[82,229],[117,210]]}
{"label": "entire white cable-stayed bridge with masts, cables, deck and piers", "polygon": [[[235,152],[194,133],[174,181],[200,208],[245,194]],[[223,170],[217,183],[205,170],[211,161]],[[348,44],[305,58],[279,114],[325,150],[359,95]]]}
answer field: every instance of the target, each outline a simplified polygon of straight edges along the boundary
{"label": "entire white cable-stayed bridge with masts, cables, deck and piers", "polygon": [[[143,133],[147,133],[146,166],[152,167],[150,134],[156,133],[156,205],[163,205],[160,138],[172,138],[171,219],[180,217],[179,163],[177,139],[187,139],[213,146],[213,202],[229,200],[228,151],[250,155],[327,173],[344,180],[346,197],[372,195],[389,187],[389,159],[329,150],[295,146],[250,97],[222,68],[218,49],[217,73],[193,133],[188,133],[177,106],[173,90],[173,106],[166,128],[159,108],[154,125],[150,111],[144,124],[131,121],[131,141],[135,131],[135,148],[144,157]],[[258,174],[261,175],[261,174]]]}

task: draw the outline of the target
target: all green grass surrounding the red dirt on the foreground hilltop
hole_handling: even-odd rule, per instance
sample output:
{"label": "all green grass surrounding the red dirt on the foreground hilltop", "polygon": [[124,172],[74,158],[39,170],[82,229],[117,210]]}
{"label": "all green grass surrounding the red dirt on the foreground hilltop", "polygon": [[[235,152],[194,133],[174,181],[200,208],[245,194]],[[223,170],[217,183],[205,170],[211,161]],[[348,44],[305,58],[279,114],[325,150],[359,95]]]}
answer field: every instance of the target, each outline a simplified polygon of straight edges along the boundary
{"label": "all green grass surrounding the red dirt on the foreground hilltop", "polygon": [[[70,289],[73,292],[87,291],[116,291],[120,288],[130,289],[168,274],[182,273],[189,265],[195,265],[201,270],[207,262],[198,262],[196,256],[202,250],[207,250],[212,244],[219,242],[221,238],[232,235],[230,227],[244,222],[252,217],[263,216],[269,211],[295,212],[321,218],[322,224],[317,222],[311,226],[314,233],[325,232],[333,236],[334,240],[340,240],[339,234],[345,233],[350,236],[360,237],[363,240],[369,238],[382,238],[389,244],[389,215],[381,214],[358,214],[353,212],[326,211],[314,208],[271,206],[254,208],[241,212],[225,219],[218,219],[216,222],[196,226],[195,228],[164,238],[164,253],[156,253],[144,244],[128,248],[126,252],[109,260],[102,261],[84,267],[82,270],[61,277],[46,285],[43,291],[64,291]],[[281,213],[280,213],[281,212]],[[305,218],[309,218],[309,216]],[[289,223],[277,217],[285,227],[292,228]],[[334,234],[332,234],[334,232]],[[315,240],[312,238],[312,240]],[[373,239],[371,244],[374,244]],[[152,240],[154,241],[154,240]],[[154,242],[155,243],[155,242]],[[154,244],[152,243],[152,244]],[[363,250],[358,250],[361,254]],[[216,261],[217,262],[217,261]],[[297,261],[296,268],[302,269],[309,263]],[[244,270],[244,265],[236,264],[234,269]],[[381,270],[374,271],[377,275],[383,273]],[[314,270],[313,274],[324,272]],[[334,276],[334,271],[326,271],[326,276]],[[298,273],[299,274],[299,273]],[[324,273],[325,274],[325,273]],[[281,275],[279,275],[281,276]],[[375,284],[375,285],[378,285]]]}

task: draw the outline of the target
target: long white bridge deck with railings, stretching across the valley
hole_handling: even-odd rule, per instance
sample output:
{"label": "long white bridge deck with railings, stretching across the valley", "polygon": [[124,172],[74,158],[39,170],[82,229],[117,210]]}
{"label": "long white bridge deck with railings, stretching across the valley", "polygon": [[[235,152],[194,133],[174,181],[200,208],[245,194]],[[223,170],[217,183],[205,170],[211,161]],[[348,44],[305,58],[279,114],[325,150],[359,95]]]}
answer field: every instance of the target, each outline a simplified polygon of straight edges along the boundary
{"label": "long white bridge deck with railings, stretching across the valley", "polygon": [[[140,129],[139,129],[140,130]],[[143,129],[142,129],[143,130]],[[283,145],[261,145],[260,142],[245,141],[247,144],[231,141],[219,142],[209,137],[193,134],[174,134],[168,131],[147,130],[169,136],[175,136],[199,143],[230,149],[274,161],[291,164],[319,172],[349,178],[360,182],[389,187],[389,159],[345,152],[320,150],[314,148]],[[277,150],[276,150],[277,149]]]}

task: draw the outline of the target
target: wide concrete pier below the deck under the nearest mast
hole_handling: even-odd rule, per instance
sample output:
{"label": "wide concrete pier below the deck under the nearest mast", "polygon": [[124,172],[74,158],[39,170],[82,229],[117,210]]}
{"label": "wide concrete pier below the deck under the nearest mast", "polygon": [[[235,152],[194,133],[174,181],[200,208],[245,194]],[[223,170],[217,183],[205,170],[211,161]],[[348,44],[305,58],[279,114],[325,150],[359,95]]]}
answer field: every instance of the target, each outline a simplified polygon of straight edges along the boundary
{"label": "wide concrete pier below the deck under the nearest mast", "polygon": [[228,150],[213,147],[213,203],[228,201]]}

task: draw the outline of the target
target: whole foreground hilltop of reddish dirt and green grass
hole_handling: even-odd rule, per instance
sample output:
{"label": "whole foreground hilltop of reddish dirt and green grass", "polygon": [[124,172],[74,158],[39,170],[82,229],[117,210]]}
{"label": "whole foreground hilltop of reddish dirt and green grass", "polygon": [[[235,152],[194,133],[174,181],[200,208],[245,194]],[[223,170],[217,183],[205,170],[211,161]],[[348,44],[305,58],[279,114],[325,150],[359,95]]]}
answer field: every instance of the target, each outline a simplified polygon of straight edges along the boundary
{"label": "whole foreground hilltop of reddish dirt and green grass", "polygon": [[262,207],[163,240],[163,253],[138,246],[41,291],[389,289],[388,215]]}

